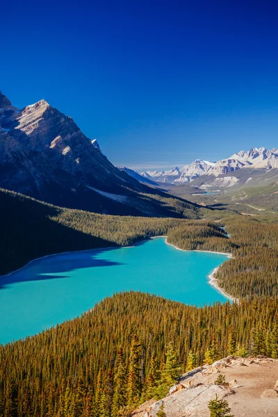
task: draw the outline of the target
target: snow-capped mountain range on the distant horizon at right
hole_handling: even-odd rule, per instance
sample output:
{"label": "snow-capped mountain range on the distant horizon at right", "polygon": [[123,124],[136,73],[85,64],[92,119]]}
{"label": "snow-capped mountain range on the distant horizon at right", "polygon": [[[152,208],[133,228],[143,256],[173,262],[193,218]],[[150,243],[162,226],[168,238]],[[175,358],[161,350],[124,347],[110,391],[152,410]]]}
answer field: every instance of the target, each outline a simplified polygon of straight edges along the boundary
{"label": "snow-capped mountain range on the distant horizon at right", "polygon": [[202,177],[213,175],[214,177],[229,174],[242,168],[256,168],[270,170],[278,167],[278,149],[266,149],[265,147],[240,151],[227,159],[217,162],[196,159],[190,165],[174,167],[169,171],[145,171],[142,177],[154,179],[156,182],[181,184],[188,183]]}

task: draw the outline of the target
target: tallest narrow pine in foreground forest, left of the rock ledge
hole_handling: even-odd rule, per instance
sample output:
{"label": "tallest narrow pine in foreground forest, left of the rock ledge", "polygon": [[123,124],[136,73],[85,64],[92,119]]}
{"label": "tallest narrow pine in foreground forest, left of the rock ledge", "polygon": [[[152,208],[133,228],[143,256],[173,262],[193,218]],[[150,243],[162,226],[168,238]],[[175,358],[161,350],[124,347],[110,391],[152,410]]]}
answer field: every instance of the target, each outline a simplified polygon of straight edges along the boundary
{"label": "tallest narrow pine in foreground forest, left of the rock ledge", "polygon": [[127,379],[127,405],[129,407],[135,407],[141,395],[142,382],[141,382],[141,366],[140,359],[142,355],[142,345],[135,334],[131,341],[131,350],[129,355],[129,374]]}

